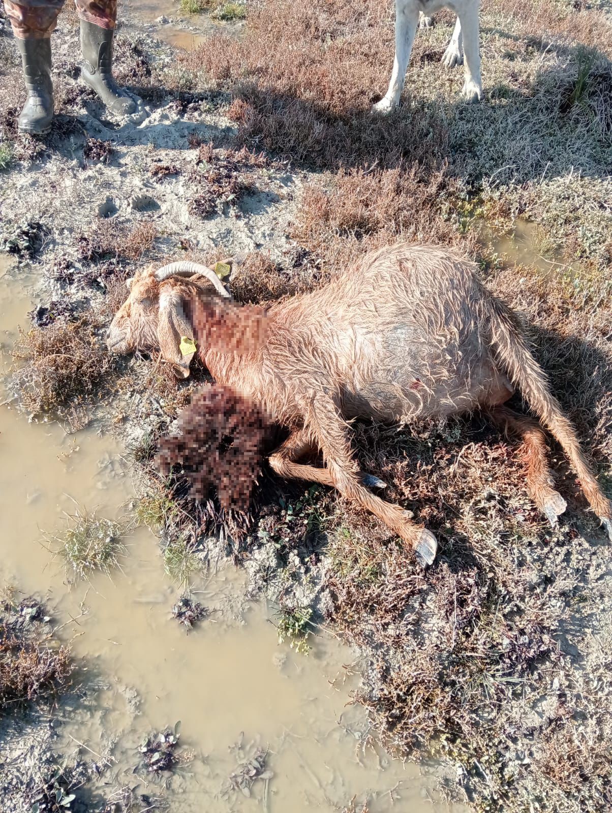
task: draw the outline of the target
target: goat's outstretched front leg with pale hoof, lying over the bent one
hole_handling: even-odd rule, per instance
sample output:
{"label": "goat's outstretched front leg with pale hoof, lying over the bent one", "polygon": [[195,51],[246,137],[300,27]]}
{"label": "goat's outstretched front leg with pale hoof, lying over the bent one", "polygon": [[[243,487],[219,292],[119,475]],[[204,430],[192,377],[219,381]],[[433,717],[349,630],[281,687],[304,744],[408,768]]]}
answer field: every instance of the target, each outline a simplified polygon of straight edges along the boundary
{"label": "goat's outstretched front leg with pale hoof, lying over the bent one", "polygon": [[401,506],[376,497],[360,478],[348,438],[348,424],[343,420],[334,399],[326,395],[313,398],[308,415],[308,427],[323,452],[331,480],[344,498],[359,503],[382,520],[417,554],[425,567],[435,559],[438,543],[422,525],[411,522],[408,511]]}

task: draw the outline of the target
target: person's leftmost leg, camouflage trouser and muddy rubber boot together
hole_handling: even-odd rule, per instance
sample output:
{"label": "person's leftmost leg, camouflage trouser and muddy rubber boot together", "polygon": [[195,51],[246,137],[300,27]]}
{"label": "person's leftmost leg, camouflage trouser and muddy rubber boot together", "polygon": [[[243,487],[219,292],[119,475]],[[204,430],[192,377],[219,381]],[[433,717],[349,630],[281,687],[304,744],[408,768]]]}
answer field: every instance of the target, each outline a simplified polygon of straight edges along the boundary
{"label": "person's leftmost leg, camouflage trouser and muddy rubber boot together", "polygon": [[51,33],[57,24],[63,0],[5,0],[15,43],[21,55],[28,98],[17,126],[20,133],[42,136],[53,120],[51,83]]}

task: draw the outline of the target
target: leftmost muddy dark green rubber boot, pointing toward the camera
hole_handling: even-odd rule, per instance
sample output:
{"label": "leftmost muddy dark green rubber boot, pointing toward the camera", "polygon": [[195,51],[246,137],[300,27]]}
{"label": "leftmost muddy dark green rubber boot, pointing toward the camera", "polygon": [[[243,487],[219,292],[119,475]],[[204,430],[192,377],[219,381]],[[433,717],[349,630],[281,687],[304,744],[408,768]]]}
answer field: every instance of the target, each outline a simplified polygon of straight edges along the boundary
{"label": "leftmost muddy dark green rubber boot, pointing toward the camera", "polygon": [[20,133],[44,136],[53,120],[53,84],[51,83],[51,41],[20,40],[15,37],[24,66],[28,98],[21,111],[17,127]]}

